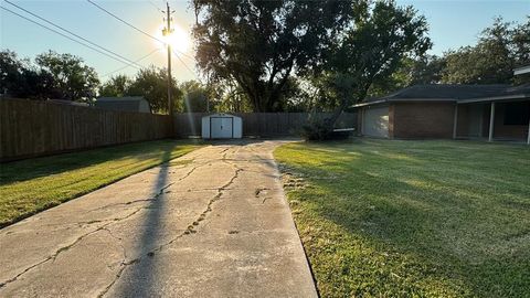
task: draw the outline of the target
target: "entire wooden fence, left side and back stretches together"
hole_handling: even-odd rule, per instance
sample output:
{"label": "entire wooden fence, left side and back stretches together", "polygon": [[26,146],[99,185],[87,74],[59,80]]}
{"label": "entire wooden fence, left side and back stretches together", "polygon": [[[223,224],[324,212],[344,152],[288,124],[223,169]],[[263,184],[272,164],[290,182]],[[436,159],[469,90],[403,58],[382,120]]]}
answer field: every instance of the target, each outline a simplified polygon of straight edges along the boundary
{"label": "entire wooden fence, left side and back stretches together", "polygon": [[[201,135],[206,113],[169,116],[103,110],[91,107],[0,99],[0,160],[44,156],[64,151],[134,141]],[[329,113],[234,113],[242,117],[243,135],[293,136],[310,117]],[[357,126],[356,114],[342,114],[338,128]]]}

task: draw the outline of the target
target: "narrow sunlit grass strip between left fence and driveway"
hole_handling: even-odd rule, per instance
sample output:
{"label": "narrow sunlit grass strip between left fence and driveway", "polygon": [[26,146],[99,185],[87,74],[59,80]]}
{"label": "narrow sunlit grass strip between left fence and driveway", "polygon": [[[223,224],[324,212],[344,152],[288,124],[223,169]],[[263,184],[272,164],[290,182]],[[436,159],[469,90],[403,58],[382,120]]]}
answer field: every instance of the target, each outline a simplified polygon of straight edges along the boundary
{"label": "narrow sunlit grass strip between left fence and driveway", "polygon": [[0,227],[198,147],[160,140],[0,164]]}

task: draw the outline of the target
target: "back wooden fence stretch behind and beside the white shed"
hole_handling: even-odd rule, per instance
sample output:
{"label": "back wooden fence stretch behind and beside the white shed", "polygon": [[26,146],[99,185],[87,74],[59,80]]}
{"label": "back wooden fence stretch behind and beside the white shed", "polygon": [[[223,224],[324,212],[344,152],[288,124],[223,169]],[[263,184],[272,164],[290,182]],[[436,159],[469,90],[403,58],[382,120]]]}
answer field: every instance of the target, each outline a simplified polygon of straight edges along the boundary
{"label": "back wooden fence stretch behind and beside the white shed", "polygon": [[[309,117],[324,119],[331,113],[230,113],[242,118],[243,136],[280,137],[296,135]],[[201,119],[206,113],[182,113],[174,115],[174,131],[180,137],[200,136]],[[344,113],[337,128],[357,127],[357,114]]]}

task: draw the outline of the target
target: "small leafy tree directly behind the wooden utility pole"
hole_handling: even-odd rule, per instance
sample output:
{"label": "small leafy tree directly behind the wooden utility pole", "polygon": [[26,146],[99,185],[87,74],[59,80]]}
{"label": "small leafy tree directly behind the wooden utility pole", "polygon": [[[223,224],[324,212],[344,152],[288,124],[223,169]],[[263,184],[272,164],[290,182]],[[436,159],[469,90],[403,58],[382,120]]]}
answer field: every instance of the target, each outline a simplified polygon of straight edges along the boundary
{"label": "small leafy tree directly behind the wooden utility pole", "polygon": [[[181,91],[177,87],[176,79],[172,81],[171,95],[173,98],[173,110],[182,110]],[[135,81],[130,84],[127,95],[144,96],[149,102],[155,113],[168,113],[168,71],[150,66],[138,72]]]}

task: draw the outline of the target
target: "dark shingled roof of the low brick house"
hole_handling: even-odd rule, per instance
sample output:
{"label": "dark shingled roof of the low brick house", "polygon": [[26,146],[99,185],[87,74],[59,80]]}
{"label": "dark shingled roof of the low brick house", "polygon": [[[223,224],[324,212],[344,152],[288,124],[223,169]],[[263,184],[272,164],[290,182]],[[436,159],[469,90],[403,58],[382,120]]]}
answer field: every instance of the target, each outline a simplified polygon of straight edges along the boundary
{"label": "dark shingled roof of the low brick house", "polygon": [[369,98],[364,103],[353,107],[382,104],[390,102],[480,102],[505,97],[530,97],[530,84],[510,86],[504,84],[495,85],[457,85],[457,84],[432,84],[414,85],[383,97]]}

